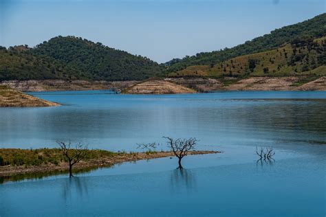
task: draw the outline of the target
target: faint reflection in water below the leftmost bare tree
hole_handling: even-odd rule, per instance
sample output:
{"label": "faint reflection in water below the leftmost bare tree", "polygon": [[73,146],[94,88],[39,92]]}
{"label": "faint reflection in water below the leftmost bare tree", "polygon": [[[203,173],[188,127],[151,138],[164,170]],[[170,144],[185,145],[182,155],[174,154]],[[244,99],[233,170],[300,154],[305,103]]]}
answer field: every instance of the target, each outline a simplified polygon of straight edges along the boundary
{"label": "faint reflection in water below the leftmost bare tree", "polygon": [[65,179],[63,183],[63,199],[71,198],[72,194],[78,194],[80,198],[87,196],[87,179],[85,177],[73,176],[69,179]]}

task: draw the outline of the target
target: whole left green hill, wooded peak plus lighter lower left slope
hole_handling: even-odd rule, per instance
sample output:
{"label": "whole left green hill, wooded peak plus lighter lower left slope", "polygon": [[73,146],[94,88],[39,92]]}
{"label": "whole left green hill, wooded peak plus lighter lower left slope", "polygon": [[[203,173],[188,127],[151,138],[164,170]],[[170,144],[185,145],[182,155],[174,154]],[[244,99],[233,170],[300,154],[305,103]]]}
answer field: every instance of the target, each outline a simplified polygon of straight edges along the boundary
{"label": "whole left green hill, wooded peak plus lighter lower left slope", "polygon": [[1,48],[0,80],[144,80],[162,72],[149,58],[74,36],[23,47]]}

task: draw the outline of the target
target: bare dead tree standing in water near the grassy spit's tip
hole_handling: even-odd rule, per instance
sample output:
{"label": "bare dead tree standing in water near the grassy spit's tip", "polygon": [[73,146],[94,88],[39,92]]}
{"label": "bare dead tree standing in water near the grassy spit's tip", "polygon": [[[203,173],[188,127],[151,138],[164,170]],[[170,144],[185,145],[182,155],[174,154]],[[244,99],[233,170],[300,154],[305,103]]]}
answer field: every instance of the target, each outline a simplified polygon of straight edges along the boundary
{"label": "bare dead tree standing in water near the grassy spit's tip", "polygon": [[181,160],[184,156],[188,155],[188,152],[191,150],[195,150],[195,146],[197,145],[197,139],[195,137],[190,139],[173,139],[170,137],[163,137],[168,139],[167,144],[174,155],[179,159],[179,168],[182,169]]}

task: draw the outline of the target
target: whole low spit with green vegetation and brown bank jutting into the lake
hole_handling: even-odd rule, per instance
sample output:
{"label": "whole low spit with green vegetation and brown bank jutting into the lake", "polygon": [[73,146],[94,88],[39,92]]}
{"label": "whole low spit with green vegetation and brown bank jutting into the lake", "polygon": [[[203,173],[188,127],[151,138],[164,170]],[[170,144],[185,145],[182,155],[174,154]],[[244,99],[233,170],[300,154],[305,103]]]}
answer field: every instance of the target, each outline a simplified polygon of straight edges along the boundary
{"label": "whole low spit with green vegetation and brown bank jutting into the lake", "polygon": [[[85,159],[74,165],[74,171],[105,168],[124,162],[175,157],[171,151],[110,152],[86,150]],[[219,151],[193,150],[188,155],[216,154]],[[68,173],[69,164],[60,148],[0,149],[0,179],[29,174]]]}

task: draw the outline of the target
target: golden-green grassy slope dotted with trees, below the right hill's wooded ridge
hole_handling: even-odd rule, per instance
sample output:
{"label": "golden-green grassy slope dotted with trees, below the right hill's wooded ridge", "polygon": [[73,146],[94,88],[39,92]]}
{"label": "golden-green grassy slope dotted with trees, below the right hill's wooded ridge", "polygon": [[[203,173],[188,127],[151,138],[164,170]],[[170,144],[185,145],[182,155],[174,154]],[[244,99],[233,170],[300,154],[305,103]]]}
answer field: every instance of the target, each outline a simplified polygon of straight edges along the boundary
{"label": "golden-green grassy slope dotted with trees, below the right hill's wooded ridge", "polygon": [[245,78],[253,76],[325,76],[326,37],[294,40],[266,52],[230,58],[216,65],[195,65],[169,77]]}

